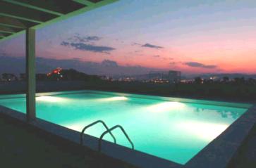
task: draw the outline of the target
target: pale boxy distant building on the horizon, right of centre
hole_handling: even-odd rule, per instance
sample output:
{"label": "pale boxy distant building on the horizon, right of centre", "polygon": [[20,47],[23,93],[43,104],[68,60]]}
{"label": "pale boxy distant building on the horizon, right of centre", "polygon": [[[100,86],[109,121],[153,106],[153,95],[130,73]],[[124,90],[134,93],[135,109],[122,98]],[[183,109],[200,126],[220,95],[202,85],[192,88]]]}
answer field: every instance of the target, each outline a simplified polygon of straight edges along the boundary
{"label": "pale boxy distant building on the horizon, right of centre", "polygon": [[180,71],[152,71],[149,74],[149,79],[154,83],[170,83],[177,84],[181,82]]}

